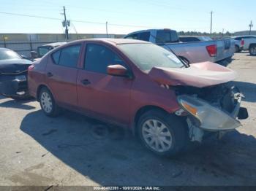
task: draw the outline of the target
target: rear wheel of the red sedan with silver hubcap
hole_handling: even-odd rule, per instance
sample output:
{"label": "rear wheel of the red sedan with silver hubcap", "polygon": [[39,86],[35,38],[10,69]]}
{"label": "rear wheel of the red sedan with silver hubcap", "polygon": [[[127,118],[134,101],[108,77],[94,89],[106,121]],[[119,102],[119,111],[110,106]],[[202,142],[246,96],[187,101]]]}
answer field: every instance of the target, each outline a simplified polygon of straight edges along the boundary
{"label": "rear wheel of the red sedan with silver hubcap", "polygon": [[50,93],[47,87],[42,87],[39,93],[39,103],[42,111],[48,117],[56,117],[60,113],[60,108],[56,104],[53,95]]}

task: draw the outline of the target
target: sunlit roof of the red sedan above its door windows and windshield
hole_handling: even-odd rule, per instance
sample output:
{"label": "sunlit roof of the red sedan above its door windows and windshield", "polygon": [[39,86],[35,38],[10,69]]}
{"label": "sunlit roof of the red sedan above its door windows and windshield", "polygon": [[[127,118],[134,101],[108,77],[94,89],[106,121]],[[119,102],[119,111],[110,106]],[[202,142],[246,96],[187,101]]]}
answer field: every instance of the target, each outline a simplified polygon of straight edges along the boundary
{"label": "sunlit roof of the red sedan above its door windows and windshield", "polygon": [[107,39],[107,38],[97,38],[97,39],[81,39],[73,42],[105,42],[108,44],[150,44],[150,42],[135,40],[135,39]]}

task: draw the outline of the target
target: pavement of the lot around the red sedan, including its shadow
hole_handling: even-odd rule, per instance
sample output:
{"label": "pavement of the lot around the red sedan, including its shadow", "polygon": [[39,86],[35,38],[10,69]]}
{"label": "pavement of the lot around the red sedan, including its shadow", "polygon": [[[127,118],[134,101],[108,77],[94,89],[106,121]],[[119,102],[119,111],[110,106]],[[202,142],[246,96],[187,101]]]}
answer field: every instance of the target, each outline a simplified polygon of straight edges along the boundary
{"label": "pavement of the lot around the red sedan, including its shadow", "polygon": [[228,67],[249,119],[221,141],[163,158],[131,133],[96,139],[91,120],[64,112],[49,118],[36,101],[0,97],[0,185],[256,185],[256,57],[238,53]]}

